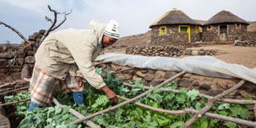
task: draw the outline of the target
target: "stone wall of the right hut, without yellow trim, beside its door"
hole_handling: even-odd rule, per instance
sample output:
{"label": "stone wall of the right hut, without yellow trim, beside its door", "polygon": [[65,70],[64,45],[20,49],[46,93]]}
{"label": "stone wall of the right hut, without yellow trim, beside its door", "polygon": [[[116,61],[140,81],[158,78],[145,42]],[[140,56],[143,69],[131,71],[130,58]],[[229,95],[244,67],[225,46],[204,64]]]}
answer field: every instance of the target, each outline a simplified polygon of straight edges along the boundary
{"label": "stone wall of the right hut, without yellow trim, beside its door", "polygon": [[[203,41],[221,41],[219,35],[219,25],[220,24],[211,24],[212,28],[207,30],[207,25],[203,26]],[[227,41],[234,40],[247,40],[248,32],[247,25],[241,24],[241,29],[236,29],[236,24],[227,24]]]}

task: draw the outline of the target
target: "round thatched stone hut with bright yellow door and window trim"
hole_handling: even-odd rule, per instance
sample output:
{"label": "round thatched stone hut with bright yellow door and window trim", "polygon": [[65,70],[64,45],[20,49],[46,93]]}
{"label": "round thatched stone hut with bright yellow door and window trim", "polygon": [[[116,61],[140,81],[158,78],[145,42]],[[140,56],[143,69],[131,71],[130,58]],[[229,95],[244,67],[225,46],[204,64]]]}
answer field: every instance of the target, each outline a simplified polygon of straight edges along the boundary
{"label": "round thatched stone hut with bright yellow door and window trim", "polygon": [[200,40],[200,24],[177,8],[150,25],[152,45],[188,45]]}

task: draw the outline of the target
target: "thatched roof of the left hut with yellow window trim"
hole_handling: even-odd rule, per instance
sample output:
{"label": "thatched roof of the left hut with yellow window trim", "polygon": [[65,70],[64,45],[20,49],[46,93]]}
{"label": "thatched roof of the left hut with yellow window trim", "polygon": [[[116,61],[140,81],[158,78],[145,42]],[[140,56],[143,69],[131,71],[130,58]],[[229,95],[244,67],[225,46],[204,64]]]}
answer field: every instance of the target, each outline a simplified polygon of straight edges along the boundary
{"label": "thatched roof of the left hut with yellow window trim", "polygon": [[150,25],[150,28],[156,25],[168,25],[168,24],[199,24],[195,20],[190,19],[188,15],[183,13],[177,8],[173,8],[172,11],[166,12],[159,19],[155,20],[153,24]]}

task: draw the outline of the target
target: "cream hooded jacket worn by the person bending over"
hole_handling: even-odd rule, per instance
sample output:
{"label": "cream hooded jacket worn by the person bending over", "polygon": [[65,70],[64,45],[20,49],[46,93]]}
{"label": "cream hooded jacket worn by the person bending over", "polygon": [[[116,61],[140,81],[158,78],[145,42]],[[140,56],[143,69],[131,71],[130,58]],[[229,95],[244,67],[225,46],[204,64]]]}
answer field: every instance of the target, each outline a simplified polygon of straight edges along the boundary
{"label": "cream hooded jacket worn by the person bending over", "polygon": [[35,53],[36,67],[46,74],[64,80],[72,76],[84,77],[99,89],[105,86],[91,61],[101,53],[101,41],[106,24],[90,21],[89,29],[65,29],[48,35]]}

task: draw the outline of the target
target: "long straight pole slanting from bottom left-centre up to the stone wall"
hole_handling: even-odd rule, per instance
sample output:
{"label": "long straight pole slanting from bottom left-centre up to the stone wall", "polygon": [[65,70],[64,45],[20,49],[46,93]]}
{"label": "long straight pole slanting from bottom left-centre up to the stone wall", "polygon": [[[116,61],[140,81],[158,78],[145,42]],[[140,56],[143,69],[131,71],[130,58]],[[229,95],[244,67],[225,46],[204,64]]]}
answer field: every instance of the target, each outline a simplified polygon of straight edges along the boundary
{"label": "long straight pole slanting from bottom left-centre up to the stone wall", "polygon": [[[164,84],[166,84],[166,83],[169,83],[170,81],[172,81],[172,80],[175,79],[176,77],[180,77],[180,76],[182,76],[182,75],[185,74],[185,73],[186,73],[185,71],[182,71],[182,72],[178,73],[177,75],[175,75],[175,76],[173,76],[173,77],[167,79],[165,82],[163,82],[163,83],[161,83],[161,84],[155,86],[155,88],[161,88],[162,85],[164,85]],[[146,92],[144,92],[144,93],[139,94],[138,96],[134,97],[133,99],[124,101],[123,103],[117,104],[117,105],[115,105],[115,106],[113,106],[113,107],[111,107],[111,108],[103,109],[103,110],[101,110],[101,111],[99,111],[99,112],[96,112],[95,114],[87,115],[87,116],[85,116],[84,118],[81,118],[81,119],[79,119],[79,120],[75,120],[75,121],[73,121],[72,123],[69,123],[68,125],[71,125],[71,124],[78,124],[78,123],[80,123],[80,122],[82,122],[82,121],[84,121],[84,120],[89,120],[90,118],[93,118],[93,117],[95,117],[95,116],[97,116],[97,115],[102,115],[102,114],[105,114],[106,112],[109,112],[109,111],[111,111],[111,110],[118,109],[118,108],[122,107],[122,106],[125,105],[125,104],[129,104],[129,103],[131,103],[131,102],[133,102],[133,101],[135,101],[135,100],[137,100],[137,99],[140,99],[140,98],[144,97],[147,93],[151,93],[151,92],[153,91],[153,89],[154,89],[154,88],[152,88],[152,89],[150,89],[150,90],[148,90],[148,91],[146,91]]]}

